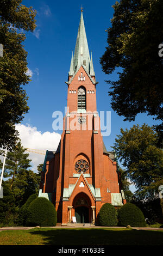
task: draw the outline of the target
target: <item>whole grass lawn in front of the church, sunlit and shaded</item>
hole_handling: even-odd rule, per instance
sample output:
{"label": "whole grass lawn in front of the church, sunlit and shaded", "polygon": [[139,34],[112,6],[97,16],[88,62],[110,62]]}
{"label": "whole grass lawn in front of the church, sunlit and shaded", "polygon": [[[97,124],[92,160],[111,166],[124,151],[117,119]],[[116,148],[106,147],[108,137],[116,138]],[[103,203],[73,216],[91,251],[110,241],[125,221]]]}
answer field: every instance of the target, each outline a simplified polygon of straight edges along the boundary
{"label": "whole grass lawn in front of the church, sunlit and shaded", "polygon": [[0,245],[163,245],[163,230],[34,228],[0,232]]}

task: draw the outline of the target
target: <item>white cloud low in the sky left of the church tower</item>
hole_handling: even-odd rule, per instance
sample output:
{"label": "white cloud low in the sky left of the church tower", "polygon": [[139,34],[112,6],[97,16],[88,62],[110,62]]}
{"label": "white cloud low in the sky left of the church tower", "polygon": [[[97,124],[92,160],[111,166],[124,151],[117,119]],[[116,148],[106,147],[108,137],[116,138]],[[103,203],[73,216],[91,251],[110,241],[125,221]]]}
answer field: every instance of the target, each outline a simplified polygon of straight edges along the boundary
{"label": "white cloud low in the sky left of the church tower", "polygon": [[[57,150],[60,142],[60,134],[57,132],[44,132],[37,131],[36,127],[17,124],[16,130],[20,133],[20,139],[24,148],[38,150]],[[29,153],[29,152],[28,152]],[[37,166],[43,163],[45,155],[36,153],[29,153],[29,159],[32,160],[32,170],[37,170]]]}

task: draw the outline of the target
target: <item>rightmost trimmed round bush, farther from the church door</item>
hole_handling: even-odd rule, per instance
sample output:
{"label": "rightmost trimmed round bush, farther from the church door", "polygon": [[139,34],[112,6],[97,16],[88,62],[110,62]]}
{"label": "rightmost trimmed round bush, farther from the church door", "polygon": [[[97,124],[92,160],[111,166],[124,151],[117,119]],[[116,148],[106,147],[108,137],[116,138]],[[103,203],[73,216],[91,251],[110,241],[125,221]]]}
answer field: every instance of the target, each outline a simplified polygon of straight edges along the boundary
{"label": "rightmost trimmed round bush, farther from the church door", "polygon": [[118,225],[122,227],[146,227],[145,216],[134,204],[127,203],[118,210]]}

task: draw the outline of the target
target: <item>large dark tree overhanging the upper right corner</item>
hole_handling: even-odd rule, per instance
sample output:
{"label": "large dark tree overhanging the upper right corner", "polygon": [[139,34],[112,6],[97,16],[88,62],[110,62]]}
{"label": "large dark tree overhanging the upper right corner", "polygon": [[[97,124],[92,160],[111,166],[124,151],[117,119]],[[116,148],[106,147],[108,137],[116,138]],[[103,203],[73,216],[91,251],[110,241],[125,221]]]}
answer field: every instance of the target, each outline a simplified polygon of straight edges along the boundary
{"label": "large dark tree overhanging the upper right corner", "polygon": [[[120,0],[113,8],[108,46],[101,58],[105,74],[122,68],[117,81],[106,81],[111,84],[111,106],[124,120],[134,120],[136,114],[147,112],[162,121],[163,63],[159,45],[163,40],[163,2]],[[155,128],[162,145],[163,123]]]}

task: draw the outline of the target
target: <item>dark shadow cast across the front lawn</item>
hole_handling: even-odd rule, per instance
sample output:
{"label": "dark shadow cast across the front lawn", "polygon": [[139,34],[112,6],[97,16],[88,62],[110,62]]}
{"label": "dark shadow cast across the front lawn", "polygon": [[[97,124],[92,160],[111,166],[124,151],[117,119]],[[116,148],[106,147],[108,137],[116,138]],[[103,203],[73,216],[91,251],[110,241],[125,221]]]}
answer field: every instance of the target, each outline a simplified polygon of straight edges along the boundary
{"label": "dark shadow cast across the front lawn", "polygon": [[134,229],[48,229],[30,230],[41,235],[44,245],[163,245],[163,231]]}

